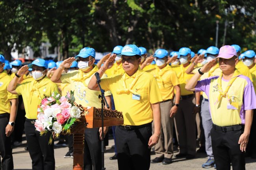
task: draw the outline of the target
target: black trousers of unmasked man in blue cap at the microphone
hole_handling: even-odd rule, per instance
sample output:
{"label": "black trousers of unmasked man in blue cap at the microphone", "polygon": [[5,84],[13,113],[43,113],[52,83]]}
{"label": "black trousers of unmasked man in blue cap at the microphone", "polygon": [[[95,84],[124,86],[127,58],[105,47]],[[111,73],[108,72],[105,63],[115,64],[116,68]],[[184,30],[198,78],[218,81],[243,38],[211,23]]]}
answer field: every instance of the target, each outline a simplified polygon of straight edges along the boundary
{"label": "black trousers of unmasked man in blue cap at the microphone", "polygon": [[115,137],[119,170],[148,170],[150,150],[148,141],[152,125],[135,130],[123,130],[116,126]]}

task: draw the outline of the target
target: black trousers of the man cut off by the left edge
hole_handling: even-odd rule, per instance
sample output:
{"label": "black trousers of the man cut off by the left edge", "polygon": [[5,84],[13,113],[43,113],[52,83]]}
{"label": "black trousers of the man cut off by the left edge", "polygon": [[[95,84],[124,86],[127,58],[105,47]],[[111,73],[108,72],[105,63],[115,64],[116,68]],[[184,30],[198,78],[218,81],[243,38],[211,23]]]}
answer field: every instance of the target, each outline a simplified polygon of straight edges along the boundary
{"label": "black trousers of the man cut off by the left edge", "polygon": [[0,155],[2,163],[0,162],[0,169],[13,170],[13,155],[11,150],[11,137],[6,137],[6,126],[9,122],[9,113],[4,113],[0,117]]}

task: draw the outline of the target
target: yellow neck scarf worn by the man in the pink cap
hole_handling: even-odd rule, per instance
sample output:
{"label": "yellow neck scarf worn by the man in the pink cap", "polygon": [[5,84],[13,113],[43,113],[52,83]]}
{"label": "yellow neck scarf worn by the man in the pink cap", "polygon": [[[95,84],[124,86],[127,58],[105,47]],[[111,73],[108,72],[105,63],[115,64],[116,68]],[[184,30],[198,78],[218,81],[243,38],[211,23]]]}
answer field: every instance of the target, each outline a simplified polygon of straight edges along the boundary
{"label": "yellow neck scarf worn by the man in the pink cap", "polygon": [[236,80],[236,78],[241,75],[241,73],[239,73],[239,71],[237,71],[237,69],[235,70],[233,77],[229,80],[228,82],[228,86],[226,87],[226,90],[223,91],[221,88],[221,79],[222,79],[222,75],[223,73],[221,72],[221,75],[218,78],[218,89],[219,89],[219,96],[217,98],[217,101],[214,104],[219,103],[219,101],[221,100],[221,97],[227,97],[228,101],[230,101],[230,96],[228,95],[228,90],[231,87],[232,83]]}

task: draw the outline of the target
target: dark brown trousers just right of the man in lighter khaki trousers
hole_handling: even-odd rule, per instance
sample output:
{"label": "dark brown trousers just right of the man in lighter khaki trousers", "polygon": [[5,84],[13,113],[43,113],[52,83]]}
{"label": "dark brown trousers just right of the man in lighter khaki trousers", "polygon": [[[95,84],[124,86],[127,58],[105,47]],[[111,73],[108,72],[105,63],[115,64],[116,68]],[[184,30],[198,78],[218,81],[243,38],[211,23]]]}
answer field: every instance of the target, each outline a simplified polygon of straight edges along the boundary
{"label": "dark brown trousers just right of the man in lighter khaki trousers", "polygon": [[196,121],[193,109],[195,97],[180,100],[175,121],[178,131],[178,142],[181,154],[196,154]]}

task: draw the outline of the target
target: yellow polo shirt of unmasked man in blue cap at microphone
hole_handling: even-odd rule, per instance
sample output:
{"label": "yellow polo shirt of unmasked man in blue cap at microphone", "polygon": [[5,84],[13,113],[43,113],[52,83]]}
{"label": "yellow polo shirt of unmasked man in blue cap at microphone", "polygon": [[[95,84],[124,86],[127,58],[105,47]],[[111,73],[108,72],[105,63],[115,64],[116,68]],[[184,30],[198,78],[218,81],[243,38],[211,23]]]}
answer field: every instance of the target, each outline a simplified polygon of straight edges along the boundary
{"label": "yellow polo shirt of unmasked man in blue cap at microphone", "polygon": [[[115,109],[122,112],[124,125],[141,125],[153,121],[151,104],[162,101],[156,78],[140,68],[129,76],[126,73],[102,79],[101,86],[110,90],[115,101]],[[131,88],[132,87],[132,88]],[[122,90],[128,90],[120,92]],[[134,95],[131,91],[137,93]]]}

